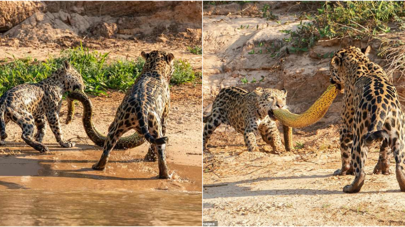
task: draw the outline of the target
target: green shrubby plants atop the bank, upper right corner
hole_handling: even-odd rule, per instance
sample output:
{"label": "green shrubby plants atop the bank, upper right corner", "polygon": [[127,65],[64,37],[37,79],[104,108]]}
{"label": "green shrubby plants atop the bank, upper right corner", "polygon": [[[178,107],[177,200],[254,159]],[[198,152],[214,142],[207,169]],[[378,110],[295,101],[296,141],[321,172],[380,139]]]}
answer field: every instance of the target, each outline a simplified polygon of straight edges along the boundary
{"label": "green shrubby plants atop the bank, upper right corner", "polygon": [[[283,45],[290,52],[308,51],[321,38],[352,37],[361,39],[391,32],[389,22],[405,29],[405,3],[396,1],[323,2],[314,15],[305,14],[311,23],[301,21],[296,31],[281,30],[288,37]],[[327,58],[329,55],[323,56]]]}

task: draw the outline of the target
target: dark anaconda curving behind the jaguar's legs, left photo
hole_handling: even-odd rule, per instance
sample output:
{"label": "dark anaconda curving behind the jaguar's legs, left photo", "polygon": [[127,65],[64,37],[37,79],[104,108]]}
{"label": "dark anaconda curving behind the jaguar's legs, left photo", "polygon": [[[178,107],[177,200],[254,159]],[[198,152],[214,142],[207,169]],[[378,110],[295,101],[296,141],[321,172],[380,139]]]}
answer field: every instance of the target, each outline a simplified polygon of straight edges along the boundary
{"label": "dark anaconda curving behind the jaguar's legs, left photo", "polygon": [[[83,105],[83,126],[85,128],[87,136],[98,146],[103,147],[105,136],[97,131],[93,125],[93,104],[89,97],[80,90],[75,90],[70,92],[66,97],[68,112],[66,118],[66,124],[69,124],[74,116],[74,102],[73,100],[78,100],[82,102]],[[145,142],[143,136],[139,136],[137,132],[134,134],[119,138],[118,142],[115,144],[114,149],[129,149],[137,147]]]}

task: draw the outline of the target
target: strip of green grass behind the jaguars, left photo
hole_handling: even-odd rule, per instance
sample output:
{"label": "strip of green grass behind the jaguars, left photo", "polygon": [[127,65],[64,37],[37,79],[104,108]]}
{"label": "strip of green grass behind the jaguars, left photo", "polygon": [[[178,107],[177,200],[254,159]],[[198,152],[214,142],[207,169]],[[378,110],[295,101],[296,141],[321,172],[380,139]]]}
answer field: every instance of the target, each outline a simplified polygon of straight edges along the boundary
{"label": "strip of green grass behind the jaguars, left photo", "polygon": [[[98,95],[106,94],[107,89],[128,90],[142,72],[145,61],[138,58],[107,63],[108,54],[90,51],[82,45],[63,50],[58,58],[50,57],[46,61],[16,59],[10,54],[13,60],[4,60],[4,64],[0,65],[0,95],[19,84],[44,80],[59,69],[65,60],[82,74],[87,93]],[[191,65],[177,60],[171,85],[192,82],[194,79],[195,73]]]}

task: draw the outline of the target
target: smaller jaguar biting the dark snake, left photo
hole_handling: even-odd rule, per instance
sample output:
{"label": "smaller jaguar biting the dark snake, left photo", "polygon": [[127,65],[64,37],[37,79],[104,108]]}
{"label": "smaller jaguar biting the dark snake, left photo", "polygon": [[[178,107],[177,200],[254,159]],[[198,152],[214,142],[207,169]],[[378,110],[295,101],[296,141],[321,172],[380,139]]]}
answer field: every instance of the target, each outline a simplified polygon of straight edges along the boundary
{"label": "smaller jaguar biting the dark snake, left photo", "polygon": [[[62,147],[73,147],[73,142],[63,140],[59,125],[59,111],[62,95],[66,91],[84,90],[82,75],[68,62],[47,79],[36,84],[21,84],[6,91],[0,98],[0,144],[7,138],[6,125],[10,121],[22,129],[21,138],[39,152],[48,151],[42,144],[47,121]],[[34,125],[37,133],[34,133]]]}

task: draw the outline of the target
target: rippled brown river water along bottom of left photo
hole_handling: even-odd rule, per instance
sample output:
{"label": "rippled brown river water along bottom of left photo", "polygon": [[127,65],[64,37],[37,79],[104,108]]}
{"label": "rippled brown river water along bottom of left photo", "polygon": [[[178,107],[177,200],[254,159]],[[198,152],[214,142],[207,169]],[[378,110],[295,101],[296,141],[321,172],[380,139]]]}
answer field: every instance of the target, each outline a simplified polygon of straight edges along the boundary
{"label": "rippled brown river water along bottom of left photo", "polygon": [[[70,186],[72,187],[72,186]],[[0,225],[198,225],[202,195],[171,191],[0,191]]]}

